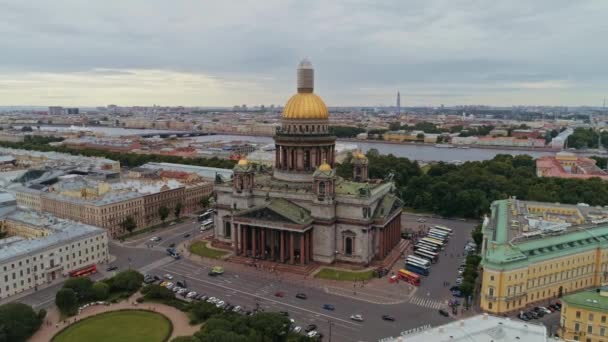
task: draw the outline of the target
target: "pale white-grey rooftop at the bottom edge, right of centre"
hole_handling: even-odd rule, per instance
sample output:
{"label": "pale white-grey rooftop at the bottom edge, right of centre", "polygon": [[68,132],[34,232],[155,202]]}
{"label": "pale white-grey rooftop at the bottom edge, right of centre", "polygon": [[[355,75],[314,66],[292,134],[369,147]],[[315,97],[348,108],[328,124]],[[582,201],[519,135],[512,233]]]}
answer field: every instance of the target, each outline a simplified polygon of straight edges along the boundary
{"label": "pale white-grey rooftop at the bottom edge, right of centre", "polygon": [[547,327],[504,317],[477,315],[434,328],[406,330],[381,342],[547,342]]}

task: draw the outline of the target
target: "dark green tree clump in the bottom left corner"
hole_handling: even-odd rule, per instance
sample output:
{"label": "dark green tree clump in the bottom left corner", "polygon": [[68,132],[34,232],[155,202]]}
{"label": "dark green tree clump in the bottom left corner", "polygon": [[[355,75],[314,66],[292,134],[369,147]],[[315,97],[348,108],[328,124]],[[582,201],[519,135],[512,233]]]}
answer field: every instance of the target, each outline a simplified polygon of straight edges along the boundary
{"label": "dark green tree clump in the bottom left corner", "polygon": [[43,319],[42,310],[36,313],[26,304],[0,305],[0,341],[25,342],[40,328]]}

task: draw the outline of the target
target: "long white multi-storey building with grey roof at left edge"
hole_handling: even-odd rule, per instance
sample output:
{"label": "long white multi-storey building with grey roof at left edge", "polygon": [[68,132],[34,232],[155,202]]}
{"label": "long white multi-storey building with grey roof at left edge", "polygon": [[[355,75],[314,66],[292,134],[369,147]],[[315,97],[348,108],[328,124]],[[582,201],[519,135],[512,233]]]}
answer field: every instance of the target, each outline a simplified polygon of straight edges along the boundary
{"label": "long white multi-storey building with grey roof at left edge", "polygon": [[108,260],[104,229],[49,214],[0,207],[0,299]]}

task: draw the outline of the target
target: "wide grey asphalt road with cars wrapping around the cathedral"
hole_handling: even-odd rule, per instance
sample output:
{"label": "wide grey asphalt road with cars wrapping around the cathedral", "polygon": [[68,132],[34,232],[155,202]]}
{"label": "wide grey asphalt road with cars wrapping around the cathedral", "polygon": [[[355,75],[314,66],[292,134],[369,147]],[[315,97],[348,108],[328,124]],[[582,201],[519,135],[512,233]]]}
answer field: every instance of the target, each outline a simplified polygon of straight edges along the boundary
{"label": "wide grey asphalt road with cars wrapping around the cathedral", "polygon": [[[448,287],[443,286],[443,282],[453,282],[455,279],[455,265],[461,260],[459,254],[462,254],[464,244],[476,223],[432,218],[420,223],[416,221],[417,218],[415,215],[404,215],[404,227],[442,224],[453,228],[455,234],[446,248],[447,256],[442,255],[439,263],[432,266],[430,276],[423,280],[412,295],[411,288],[408,288],[410,285],[401,282],[387,287],[386,278],[372,281],[372,284],[382,286],[368,284],[364,288],[353,288],[351,293],[348,287],[334,286],[331,282],[304,280],[298,278],[300,276],[288,274],[277,275],[227,262],[221,263],[225,269],[224,275],[208,276],[208,270],[218,262],[198,262],[187,258],[174,260],[165,252],[172,243],[179,244],[186,239],[211,234],[211,231],[200,233],[199,224],[192,219],[124,243],[112,242],[110,253],[116,260],[111,264],[119,270],[133,268],[159,276],[170,273],[175,277],[174,280],[186,280],[190,289],[221,298],[233,305],[248,309],[259,306],[266,311],[287,311],[297,326],[316,324],[326,341],[329,340],[330,325],[333,341],[377,341],[387,336],[398,336],[411,328],[427,324],[437,326],[452,320],[437,312],[439,308],[445,308],[446,301],[451,298]],[[185,234],[190,234],[190,237],[185,238]],[[151,243],[152,236],[161,237],[162,240]],[[402,265],[398,262],[395,270],[400,267]],[[19,301],[34,304],[37,308],[48,307],[53,305],[54,294],[59,287],[57,284],[39,290]],[[283,292],[284,296],[275,296],[278,291]],[[308,299],[295,298],[298,292],[305,293]],[[323,304],[332,304],[335,310],[324,310]],[[363,315],[364,321],[350,320],[349,317],[353,314]],[[381,317],[385,314],[395,317],[396,321],[382,320]]]}

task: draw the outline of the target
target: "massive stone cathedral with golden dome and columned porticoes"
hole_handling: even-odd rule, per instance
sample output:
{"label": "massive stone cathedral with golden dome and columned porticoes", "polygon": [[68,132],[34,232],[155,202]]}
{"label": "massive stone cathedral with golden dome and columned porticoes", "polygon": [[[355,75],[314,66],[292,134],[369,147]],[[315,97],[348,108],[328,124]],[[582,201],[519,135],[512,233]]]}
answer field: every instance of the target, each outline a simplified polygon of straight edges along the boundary
{"label": "massive stone cathedral with golden dome and columned porticoes", "polygon": [[403,202],[394,183],[369,179],[361,152],[353,155],[351,179],[336,175],[336,137],[306,59],[274,142],[272,169],[241,159],[232,179],[216,180],[217,240],[236,255],[298,265],[368,265],[399,243]]}

